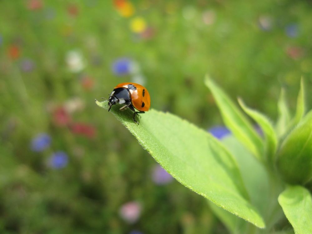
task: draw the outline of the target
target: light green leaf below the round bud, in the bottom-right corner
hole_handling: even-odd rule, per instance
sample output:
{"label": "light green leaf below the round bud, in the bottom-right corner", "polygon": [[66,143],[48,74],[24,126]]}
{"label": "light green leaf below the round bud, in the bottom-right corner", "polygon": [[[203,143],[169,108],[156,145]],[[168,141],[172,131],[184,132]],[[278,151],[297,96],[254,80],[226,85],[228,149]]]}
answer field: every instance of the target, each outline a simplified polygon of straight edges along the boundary
{"label": "light green leaf below the round bud, in the bottom-right corner", "polygon": [[302,186],[289,186],[278,197],[278,202],[296,234],[312,233],[312,198]]}

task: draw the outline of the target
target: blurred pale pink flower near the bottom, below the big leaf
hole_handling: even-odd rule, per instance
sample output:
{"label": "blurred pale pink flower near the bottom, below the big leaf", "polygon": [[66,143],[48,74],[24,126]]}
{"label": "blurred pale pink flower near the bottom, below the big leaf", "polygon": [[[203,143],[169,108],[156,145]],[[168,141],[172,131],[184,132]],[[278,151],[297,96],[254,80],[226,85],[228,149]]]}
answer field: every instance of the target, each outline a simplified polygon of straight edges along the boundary
{"label": "blurred pale pink flower near the bottom, below the big leaf", "polygon": [[130,224],[135,223],[141,215],[141,205],[139,202],[125,203],[122,207],[120,207],[119,215],[124,221]]}

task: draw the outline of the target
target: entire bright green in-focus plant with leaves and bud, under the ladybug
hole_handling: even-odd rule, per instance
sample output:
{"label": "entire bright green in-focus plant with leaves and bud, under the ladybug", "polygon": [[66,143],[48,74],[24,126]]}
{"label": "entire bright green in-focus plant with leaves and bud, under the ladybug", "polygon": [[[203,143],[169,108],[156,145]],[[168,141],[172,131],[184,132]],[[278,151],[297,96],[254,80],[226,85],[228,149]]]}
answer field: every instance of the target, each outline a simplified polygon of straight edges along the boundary
{"label": "entire bright green in-focus plant with leaves and bud, under the ladybug", "polygon": [[[281,146],[273,124],[265,115],[238,100],[246,114],[263,130],[262,139],[221,88],[208,77],[205,83],[216,99],[224,123],[233,133],[222,142],[169,113],[152,109],[142,116],[137,126],[131,120],[130,110],[119,111],[119,106],[113,106],[112,112],[174,178],[212,202],[212,210],[230,232],[274,233],[272,230],[276,231],[275,226],[285,217],[279,202],[295,233],[309,233],[306,231],[311,228],[308,190],[288,187],[281,193],[286,183],[304,184],[312,178],[312,110],[303,117],[303,82],[291,122],[287,120],[288,107],[281,94],[279,124],[284,130],[280,137],[299,122]],[[96,103],[108,109],[107,101]],[[275,158],[284,181],[275,170]],[[305,203],[308,210],[300,212]],[[301,221],[299,216],[302,216]],[[257,229],[238,217],[265,229]]]}

